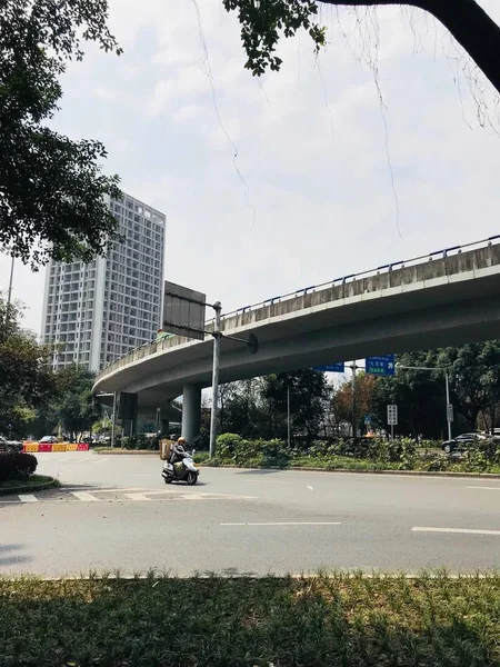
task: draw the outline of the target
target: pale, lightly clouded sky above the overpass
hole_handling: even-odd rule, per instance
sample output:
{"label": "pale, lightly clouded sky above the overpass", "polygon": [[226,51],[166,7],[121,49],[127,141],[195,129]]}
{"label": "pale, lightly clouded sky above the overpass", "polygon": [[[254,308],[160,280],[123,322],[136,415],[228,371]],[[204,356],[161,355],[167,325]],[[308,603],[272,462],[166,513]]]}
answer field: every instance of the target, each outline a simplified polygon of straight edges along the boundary
{"label": "pale, lightly clouded sky above the overpass", "polygon": [[[221,0],[110,0],[124,52],[71,63],[52,126],[103,141],[106,172],[167,215],[166,278],[223,311],[500,233],[492,87],[471,91],[470,60],[420,10],[356,19],[322,6],[326,49],[283,40],[281,71],[257,79]],[[0,256],[2,289],[9,270]],[[43,268],[18,262],[13,296],[39,331]]]}

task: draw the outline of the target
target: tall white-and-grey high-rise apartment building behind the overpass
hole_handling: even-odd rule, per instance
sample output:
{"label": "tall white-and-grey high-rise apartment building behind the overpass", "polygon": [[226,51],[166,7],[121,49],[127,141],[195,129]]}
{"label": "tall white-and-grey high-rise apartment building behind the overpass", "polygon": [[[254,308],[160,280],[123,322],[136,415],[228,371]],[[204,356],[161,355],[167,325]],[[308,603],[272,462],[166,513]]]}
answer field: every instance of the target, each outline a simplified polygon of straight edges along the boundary
{"label": "tall white-and-grey high-rise apartment building behind the overpass", "polygon": [[90,263],[47,266],[41,338],[63,344],[54,368],[100,370],[151,341],[161,323],[166,217],[123,193],[108,200],[122,242]]}

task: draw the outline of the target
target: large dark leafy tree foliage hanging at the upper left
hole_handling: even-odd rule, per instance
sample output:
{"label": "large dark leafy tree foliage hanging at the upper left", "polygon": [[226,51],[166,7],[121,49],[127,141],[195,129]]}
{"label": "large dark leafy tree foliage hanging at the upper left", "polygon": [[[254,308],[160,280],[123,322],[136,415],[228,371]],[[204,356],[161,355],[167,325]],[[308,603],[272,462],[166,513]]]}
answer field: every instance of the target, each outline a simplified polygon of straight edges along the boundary
{"label": "large dark leafy tree foliage hanging at the upper left", "polygon": [[[49,256],[89,261],[118,238],[104,196],[99,141],[72,141],[44,123],[58,110],[59,77],[81,39],[120,53],[106,0],[3,0],[0,12],[0,245],[37,269]],[[80,38],[81,36],[81,38]]]}

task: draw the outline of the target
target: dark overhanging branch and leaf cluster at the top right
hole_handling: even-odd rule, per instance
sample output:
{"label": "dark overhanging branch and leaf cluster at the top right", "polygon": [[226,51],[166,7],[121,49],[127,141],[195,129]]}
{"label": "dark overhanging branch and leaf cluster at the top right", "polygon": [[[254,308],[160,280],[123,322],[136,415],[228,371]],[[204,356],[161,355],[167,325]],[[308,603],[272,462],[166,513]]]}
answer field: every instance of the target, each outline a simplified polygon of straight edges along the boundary
{"label": "dark overhanging branch and leaf cluster at the top right", "polygon": [[[474,0],[319,0],[324,4],[377,7],[402,4],[422,9],[451,32],[500,91],[500,28]],[[318,50],[326,43],[326,31],[316,20],[314,0],[222,0],[227,11],[237,11],[241,41],[247,53],[246,68],[260,76],[268,68],[279,70],[274,54],[282,34],[292,37],[306,29]]]}

